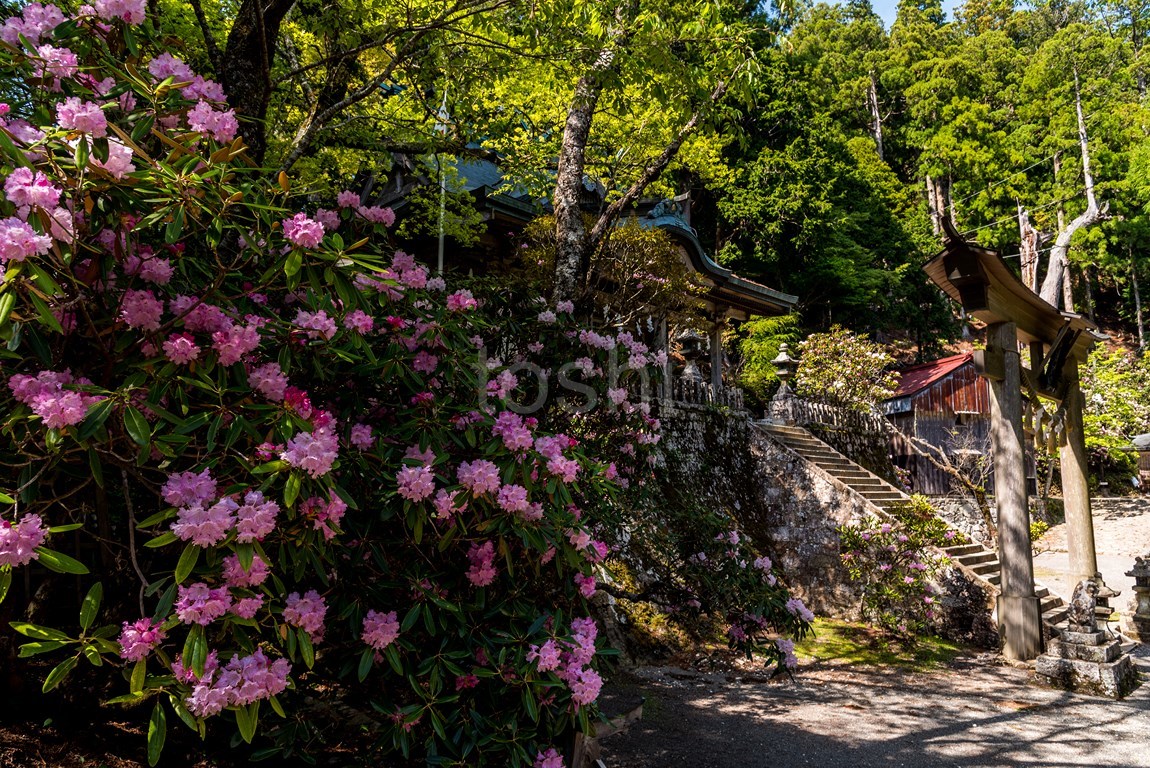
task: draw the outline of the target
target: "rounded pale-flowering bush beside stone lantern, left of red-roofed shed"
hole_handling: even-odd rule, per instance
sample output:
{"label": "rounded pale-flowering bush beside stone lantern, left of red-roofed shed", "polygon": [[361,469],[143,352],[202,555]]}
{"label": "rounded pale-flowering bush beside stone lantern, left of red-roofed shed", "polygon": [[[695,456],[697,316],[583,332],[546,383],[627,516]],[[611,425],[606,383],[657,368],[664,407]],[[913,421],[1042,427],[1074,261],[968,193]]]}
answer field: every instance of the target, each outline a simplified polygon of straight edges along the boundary
{"label": "rounded pale-flowering bush beside stone lantern, left of red-roofed shed", "polygon": [[835,325],[799,341],[795,371],[799,397],[853,410],[869,410],[895,392],[895,362],[880,344]]}

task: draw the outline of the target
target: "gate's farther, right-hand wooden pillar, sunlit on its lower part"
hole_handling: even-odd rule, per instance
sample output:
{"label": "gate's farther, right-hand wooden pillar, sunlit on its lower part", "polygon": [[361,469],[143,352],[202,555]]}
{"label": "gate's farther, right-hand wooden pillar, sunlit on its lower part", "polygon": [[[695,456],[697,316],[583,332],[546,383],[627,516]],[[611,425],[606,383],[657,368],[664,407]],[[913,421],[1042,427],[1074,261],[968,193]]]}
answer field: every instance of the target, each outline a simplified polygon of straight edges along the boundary
{"label": "gate's farther, right-hand wooden pillar, sunlit on its lower part", "polygon": [[1065,420],[1058,451],[1063,470],[1063,501],[1066,505],[1066,546],[1070,550],[1071,585],[1094,578],[1098,559],[1094,550],[1094,516],[1090,514],[1090,489],[1087,485],[1086,436],[1082,431],[1082,387],[1079,385],[1078,360],[1066,361]]}

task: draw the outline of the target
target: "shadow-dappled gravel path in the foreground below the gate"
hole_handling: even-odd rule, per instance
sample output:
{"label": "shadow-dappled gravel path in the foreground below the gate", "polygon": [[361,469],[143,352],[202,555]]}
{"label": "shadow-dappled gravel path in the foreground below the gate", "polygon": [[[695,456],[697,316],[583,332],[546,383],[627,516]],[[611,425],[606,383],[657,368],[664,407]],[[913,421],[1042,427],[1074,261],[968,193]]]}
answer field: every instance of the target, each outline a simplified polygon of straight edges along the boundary
{"label": "shadow-dappled gravel path in the foreground below the gate", "polygon": [[987,659],[918,674],[814,665],[770,683],[638,675],[643,720],[604,740],[608,768],[1150,768],[1150,685],[1111,701]]}

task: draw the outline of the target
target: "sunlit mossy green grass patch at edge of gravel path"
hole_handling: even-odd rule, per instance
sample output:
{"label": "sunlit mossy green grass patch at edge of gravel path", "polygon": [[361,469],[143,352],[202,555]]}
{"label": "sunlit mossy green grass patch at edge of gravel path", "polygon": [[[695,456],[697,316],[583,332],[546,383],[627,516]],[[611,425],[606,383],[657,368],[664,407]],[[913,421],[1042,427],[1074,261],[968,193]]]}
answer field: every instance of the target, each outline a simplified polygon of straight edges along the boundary
{"label": "sunlit mossy green grass patch at edge of gravel path", "polygon": [[940,637],[920,637],[905,647],[866,624],[815,619],[814,635],[795,644],[799,665],[823,662],[834,666],[898,667],[907,671],[945,668],[969,652],[964,645]]}

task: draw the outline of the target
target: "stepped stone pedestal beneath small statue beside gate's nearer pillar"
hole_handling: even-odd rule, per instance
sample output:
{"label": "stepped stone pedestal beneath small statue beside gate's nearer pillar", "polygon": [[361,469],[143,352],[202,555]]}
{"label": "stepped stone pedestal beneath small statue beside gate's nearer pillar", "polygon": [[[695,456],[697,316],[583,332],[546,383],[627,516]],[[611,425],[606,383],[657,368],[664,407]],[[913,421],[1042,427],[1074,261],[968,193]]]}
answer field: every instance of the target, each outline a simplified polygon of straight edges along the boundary
{"label": "stepped stone pedestal beneath small statue beside gate's nearer pillar", "polygon": [[1137,686],[1137,670],[1117,639],[1105,632],[1059,632],[1035,659],[1038,679],[1076,693],[1120,699]]}

